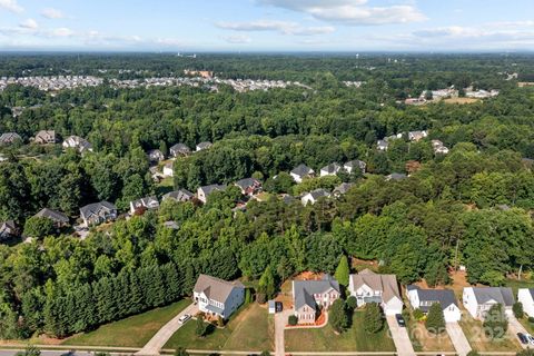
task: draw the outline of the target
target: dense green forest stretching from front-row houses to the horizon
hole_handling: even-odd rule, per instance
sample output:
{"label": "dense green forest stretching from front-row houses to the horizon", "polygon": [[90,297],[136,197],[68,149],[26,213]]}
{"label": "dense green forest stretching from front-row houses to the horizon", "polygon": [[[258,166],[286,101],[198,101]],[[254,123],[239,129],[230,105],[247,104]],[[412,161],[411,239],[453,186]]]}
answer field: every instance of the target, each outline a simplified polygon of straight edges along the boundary
{"label": "dense green forest stretching from front-row houses to the horizon", "polygon": [[[0,220],[23,226],[43,207],[77,218],[79,207],[159,194],[146,152],[177,144],[214,146],[175,161],[175,188],[257,177],[265,201],[243,200],[233,187],[206,205],[165,201],[157,211],[93,228],[87,239],[41,236],[0,245],[0,337],[47,333],[63,337],[188,295],[200,273],[250,285],[276,273],[334,273],[342,256],[380,260],[403,284],[447,284],[463,265],[469,283],[501,285],[534,267],[534,89],[517,81],[534,73],[528,56],[2,56],[2,76],[93,75],[111,78],[181,76],[206,69],[221,78],[298,80],[288,87],[236,92],[221,87],[96,88],[47,93],[9,86],[0,93],[0,132],[23,142],[0,149]],[[507,80],[506,73],[518,78]],[[365,81],[360,88],[344,80]],[[469,105],[406,106],[424,90],[471,85],[498,89]],[[26,107],[19,116],[12,108]],[[93,152],[38,146],[53,129],[87,138]],[[384,137],[427,130],[421,141]],[[435,155],[431,140],[451,148]],[[299,164],[318,171],[360,159],[365,175],[312,178],[287,175]],[[404,180],[386,180],[393,172]],[[342,181],[338,198],[303,206],[299,196]],[[164,222],[176,221],[178,229]],[[48,234],[44,234],[48,235]]]}

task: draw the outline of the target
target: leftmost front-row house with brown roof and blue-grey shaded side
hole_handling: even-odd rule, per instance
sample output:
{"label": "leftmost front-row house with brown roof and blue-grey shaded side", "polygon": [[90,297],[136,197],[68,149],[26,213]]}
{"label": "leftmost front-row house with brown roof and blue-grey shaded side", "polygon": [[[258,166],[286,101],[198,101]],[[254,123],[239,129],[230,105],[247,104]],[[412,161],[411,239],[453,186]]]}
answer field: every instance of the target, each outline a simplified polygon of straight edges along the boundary
{"label": "leftmost front-row house with brown roof and blue-grey shaded side", "polygon": [[238,280],[200,275],[192,289],[192,300],[200,312],[228,319],[245,300],[245,286]]}

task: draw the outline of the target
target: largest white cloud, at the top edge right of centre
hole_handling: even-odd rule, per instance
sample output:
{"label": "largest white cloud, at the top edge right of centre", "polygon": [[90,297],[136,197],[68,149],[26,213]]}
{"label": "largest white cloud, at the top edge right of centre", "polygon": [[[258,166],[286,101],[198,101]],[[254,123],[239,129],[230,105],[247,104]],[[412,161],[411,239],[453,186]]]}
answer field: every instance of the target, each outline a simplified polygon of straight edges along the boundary
{"label": "largest white cloud, at the top edge right of centre", "polygon": [[317,20],[347,26],[408,23],[426,20],[413,4],[370,7],[367,0],[257,0],[273,6],[305,12]]}

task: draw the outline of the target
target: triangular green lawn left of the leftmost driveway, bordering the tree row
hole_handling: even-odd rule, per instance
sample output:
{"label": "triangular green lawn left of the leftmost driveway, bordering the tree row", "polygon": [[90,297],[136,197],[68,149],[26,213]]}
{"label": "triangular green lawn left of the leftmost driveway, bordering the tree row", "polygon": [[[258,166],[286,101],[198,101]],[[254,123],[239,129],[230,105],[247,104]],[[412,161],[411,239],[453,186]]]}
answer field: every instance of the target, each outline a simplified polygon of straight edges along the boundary
{"label": "triangular green lawn left of the leftmost driveway, bordering the tree row", "polygon": [[190,303],[191,300],[184,299],[162,308],[102,325],[93,332],[66,339],[63,345],[142,347]]}

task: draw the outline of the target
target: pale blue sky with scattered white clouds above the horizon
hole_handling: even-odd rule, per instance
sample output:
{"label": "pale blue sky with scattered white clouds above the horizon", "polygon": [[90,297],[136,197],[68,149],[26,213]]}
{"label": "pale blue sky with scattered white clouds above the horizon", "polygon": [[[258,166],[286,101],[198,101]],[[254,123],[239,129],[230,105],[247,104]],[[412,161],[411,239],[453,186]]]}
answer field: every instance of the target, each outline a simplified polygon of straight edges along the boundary
{"label": "pale blue sky with scattered white clouds above the horizon", "polygon": [[0,0],[0,50],[533,49],[534,0]]}

